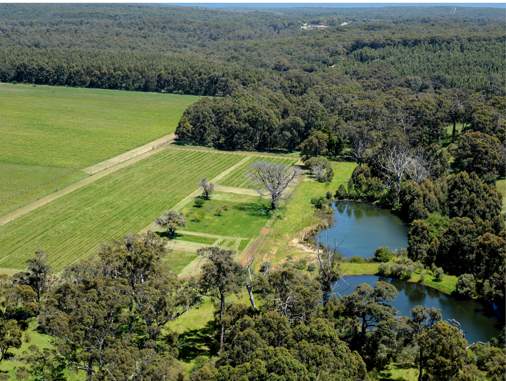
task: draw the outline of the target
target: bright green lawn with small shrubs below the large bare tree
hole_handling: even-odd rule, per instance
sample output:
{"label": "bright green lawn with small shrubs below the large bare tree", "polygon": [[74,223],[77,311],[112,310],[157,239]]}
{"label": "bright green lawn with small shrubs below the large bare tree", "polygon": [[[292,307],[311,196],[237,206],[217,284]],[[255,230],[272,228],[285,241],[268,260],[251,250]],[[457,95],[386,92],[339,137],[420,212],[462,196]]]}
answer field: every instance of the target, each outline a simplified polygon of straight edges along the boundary
{"label": "bright green lawn with small shrubs below the large bare tree", "polygon": [[[222,205],[229,208],[218,216],[217,211]],[[218,191],[203,206],[194,206],[192,200],[181,211],[188,221],[188,231],[253,238],[259,236],[262,227],[272,217],[269,207],[270,202],[265,198]]]}

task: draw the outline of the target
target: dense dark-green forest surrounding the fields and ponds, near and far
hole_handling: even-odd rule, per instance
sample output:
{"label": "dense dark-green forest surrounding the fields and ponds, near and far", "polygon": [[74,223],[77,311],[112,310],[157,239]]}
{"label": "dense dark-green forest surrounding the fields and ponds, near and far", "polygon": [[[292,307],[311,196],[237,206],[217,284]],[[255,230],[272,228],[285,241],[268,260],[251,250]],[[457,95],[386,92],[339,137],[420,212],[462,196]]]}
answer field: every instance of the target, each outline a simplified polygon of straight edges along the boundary
{"label": "dense dark-green forest surrounding the fields and ponds, near and far", "polygon": [[[506,163],[505,22],[502,9],[466,7],[4,4],[0,80],[202,95],[179,122],[181,143],[300,151],[327,175],[327,160],[356,161],[328,198],[374,202],[410,224],[402,260],[381,275],[452,274],[455,297],[504,309],[495,185]],[[37,316],[54,346],[32,346],[20,378],[74,369],[88,379],[184,379],[183,343],[163,326],[210,296],[220,302],[207,327],[217,356],[201,359],[193,380],[363,380],[394,358],[416,362],[419,381],[476,379],[478,369],[504,379],[504,331],[469,349],[438,310],[396,316],[387,303],[397,291],[383,282],[332,298],[342,268],[328,252],[317,271],[301,260],[247,275],[229,251],[209,248],[199,253],[203,276],[185,283],[163,247],[151,233],[124,237],[56,285],[38,252],[28,272],[0,278],[0,329],[10,332],[1,355]],[[388,262],[382,250],[375,260]],[[251,306],[225,303],[244,288],[262,307],[252,296]]]}

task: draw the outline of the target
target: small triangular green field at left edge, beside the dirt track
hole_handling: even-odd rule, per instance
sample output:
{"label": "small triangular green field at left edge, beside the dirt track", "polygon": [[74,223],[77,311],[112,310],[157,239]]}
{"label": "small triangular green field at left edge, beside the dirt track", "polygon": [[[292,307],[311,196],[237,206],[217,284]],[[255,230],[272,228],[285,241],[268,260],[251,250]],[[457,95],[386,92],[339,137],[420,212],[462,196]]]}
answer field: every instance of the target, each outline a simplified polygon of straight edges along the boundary
{"label": "small triangular green field at left edge, beside the dirt track", "polygon": [[69,168],[0,163],[0,216],[88,176]]}

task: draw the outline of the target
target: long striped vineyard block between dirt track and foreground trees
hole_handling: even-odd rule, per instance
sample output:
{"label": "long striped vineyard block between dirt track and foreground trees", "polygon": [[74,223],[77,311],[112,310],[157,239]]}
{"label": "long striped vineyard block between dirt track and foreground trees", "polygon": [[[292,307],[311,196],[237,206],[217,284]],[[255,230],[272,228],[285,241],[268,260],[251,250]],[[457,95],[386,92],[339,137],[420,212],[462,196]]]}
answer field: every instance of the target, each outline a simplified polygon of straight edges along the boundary
{"label": "long striped vineyard block between dirt track and foreground trees", "polygon": [[102,242],[136,233],[242,156],[167,149],[82,186],[0,227],[0,267],[24,268],[34,250],[55,270],[90,257]]}

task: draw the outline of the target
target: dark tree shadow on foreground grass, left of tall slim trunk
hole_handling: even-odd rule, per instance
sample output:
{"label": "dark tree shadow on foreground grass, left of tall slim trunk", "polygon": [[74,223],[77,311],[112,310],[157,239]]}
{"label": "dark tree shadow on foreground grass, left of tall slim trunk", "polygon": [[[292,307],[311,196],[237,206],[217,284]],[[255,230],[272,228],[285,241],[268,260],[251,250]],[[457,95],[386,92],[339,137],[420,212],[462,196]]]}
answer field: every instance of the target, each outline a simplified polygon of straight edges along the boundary
{"label": "dark tree shadow on foreground grass, left of tall slim trunk", "polygon": [[198,356],[211,357],[218,354],[212,323],[209,321],[200,329],[188,329],[179,335],[179,339],[185,343],[179,348],[179,360],[190,362]]}

